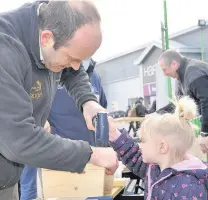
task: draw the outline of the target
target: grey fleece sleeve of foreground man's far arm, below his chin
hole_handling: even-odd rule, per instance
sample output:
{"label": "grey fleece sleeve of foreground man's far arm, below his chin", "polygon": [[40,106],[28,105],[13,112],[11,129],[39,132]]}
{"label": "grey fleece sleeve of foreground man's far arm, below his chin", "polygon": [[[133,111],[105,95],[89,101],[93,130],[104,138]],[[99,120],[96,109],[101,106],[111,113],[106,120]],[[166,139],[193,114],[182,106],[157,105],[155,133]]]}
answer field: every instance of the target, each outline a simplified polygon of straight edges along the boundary
{"label": "grey fleece sleeve of foreground man's far arm, below his chin", "polygon": [[78,71],[72,68],[65,69],[60,82],[65,85],[80,110],[82,110],[82,105],[87,101],[97,102],[96,96],[91,91],[89,76],[84,67],[80,67]]}

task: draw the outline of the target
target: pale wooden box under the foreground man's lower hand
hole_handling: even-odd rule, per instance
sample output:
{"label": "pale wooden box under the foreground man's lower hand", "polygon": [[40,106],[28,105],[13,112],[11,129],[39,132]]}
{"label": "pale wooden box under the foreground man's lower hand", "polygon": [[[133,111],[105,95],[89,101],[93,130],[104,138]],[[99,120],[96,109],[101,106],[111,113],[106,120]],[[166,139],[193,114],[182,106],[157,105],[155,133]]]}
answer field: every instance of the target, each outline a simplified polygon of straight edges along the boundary
{"label": "pale wooden box under the foreground man's lower hand", "polygon": [[82,174],[41,170],[43,199],[67,197],[95,197],[110,194],[114,176],[107,176],[105,169],[88,164]]}

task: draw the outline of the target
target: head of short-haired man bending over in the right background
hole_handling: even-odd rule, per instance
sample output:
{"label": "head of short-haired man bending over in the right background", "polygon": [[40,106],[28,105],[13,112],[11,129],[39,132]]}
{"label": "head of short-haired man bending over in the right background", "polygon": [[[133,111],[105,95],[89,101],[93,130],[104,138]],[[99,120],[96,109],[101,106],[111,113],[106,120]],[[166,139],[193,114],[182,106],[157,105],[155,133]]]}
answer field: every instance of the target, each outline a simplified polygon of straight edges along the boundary
{"label": "head of short-haired man bending over in the right background", "polygon": [[167,50],[163,52],[158,60],[165,76],[178,79],[177,69],[180,66],[182,55],[174,50]]}

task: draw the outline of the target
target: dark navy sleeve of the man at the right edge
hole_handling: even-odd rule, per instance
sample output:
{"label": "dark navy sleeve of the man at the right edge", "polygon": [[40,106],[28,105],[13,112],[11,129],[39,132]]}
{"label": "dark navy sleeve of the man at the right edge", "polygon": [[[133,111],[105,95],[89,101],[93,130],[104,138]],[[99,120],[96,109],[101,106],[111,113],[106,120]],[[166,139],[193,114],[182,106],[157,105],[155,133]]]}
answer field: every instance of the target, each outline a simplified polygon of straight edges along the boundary
{"label": "dark navy sleeve of the man at the right edge", "polygon": [[190,84],[190,91],[199,102],[201,114],[201,131],[208,133],[208,78],[201,76]]}

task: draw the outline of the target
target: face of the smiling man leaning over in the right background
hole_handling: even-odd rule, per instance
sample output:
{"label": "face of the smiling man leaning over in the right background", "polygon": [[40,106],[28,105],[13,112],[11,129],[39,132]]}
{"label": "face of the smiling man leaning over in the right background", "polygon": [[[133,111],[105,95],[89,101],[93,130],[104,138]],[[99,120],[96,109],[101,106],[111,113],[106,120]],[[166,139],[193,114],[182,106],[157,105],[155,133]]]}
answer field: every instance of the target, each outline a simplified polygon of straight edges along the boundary
{"label": "face of the smiling man leaning over in the right background", "polygon": [[178,79],[177,69],[179,67],[179,63],[177,61],[173,60],[171,64],[167,64],[166,61],[161,58],[158,63],[165,76]]}

